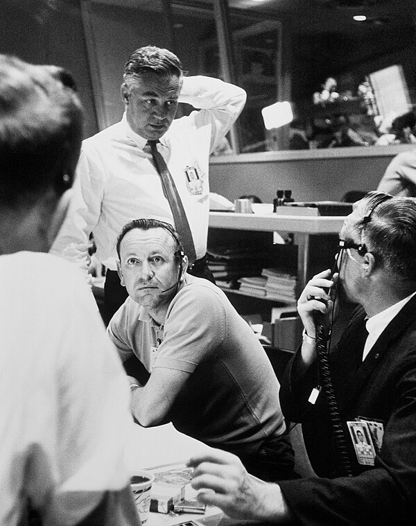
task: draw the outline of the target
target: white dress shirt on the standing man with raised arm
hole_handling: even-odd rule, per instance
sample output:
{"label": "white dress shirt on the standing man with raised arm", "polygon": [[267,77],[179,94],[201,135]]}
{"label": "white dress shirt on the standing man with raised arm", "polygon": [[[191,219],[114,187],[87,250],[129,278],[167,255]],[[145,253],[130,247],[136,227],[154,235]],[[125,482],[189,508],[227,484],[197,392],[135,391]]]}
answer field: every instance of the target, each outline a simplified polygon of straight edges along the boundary
{"label": "white dress shirt on the standing man with raised arm", "polygon": [[[196,249],[207,251],[209,220],[209,155],[229,131],[245,104],[245,91],[216,78],[184,77],[179,101],[199,109],[175,119],[159,139],[158,150],[177,186]],[[89,234],[96,256],[116,270],[116,238],[134,218],[155,218],[173,224],[159,174],[146,139],[132,131],[125,114],[121,122],[83,141],[74,198],[51,252],[77,262],[87,270]],[[187,168],[196,168],[200,185],[190,187]]]}

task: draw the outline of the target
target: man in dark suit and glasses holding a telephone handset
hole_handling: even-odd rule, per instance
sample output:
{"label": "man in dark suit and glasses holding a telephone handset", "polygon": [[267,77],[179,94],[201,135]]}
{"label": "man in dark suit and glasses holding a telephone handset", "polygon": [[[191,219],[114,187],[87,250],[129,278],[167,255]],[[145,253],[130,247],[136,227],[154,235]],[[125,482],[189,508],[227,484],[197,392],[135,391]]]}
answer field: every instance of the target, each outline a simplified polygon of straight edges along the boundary
{"label": "man in dark suit and glasses holding a telephone handset", "polygon": [[[337,263],[339,274],[320,272],[300,296],[304,341],[280,391],[286,419],[302,422],[318,477],[261,485],[227,453],[191,458],[199,500],[232,517],[303,525],[416,521],[416,200],[365,195],[345,219]],[[315,320],[318,311],[330,324],[336,288],[359,306],[329,351],[328,386]],[[371,442],[379,437],[372,455],[356,447],[357,428]]]}

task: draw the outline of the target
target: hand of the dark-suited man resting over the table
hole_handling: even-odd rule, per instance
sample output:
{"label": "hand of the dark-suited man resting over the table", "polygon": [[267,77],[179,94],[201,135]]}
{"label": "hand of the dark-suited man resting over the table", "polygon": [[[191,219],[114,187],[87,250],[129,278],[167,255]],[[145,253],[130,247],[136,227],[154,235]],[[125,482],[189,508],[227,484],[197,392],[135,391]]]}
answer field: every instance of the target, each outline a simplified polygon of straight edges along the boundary
{"label": "hand of the dark-suited man resting over the table", "polygon": [[229,517],[285,524],[293,515],[278,484],[252,477],[238,457],[211,448],[189,459],[193,467],[191,486],[200,490],[198,500],[217,506]]}

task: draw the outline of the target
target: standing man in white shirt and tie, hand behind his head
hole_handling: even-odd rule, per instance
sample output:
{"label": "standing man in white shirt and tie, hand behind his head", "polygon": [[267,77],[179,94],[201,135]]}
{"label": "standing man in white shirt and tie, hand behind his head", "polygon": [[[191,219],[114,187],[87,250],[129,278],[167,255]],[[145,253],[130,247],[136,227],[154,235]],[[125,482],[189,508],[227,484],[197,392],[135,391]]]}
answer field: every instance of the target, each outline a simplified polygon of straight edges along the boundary
{"label": "standing man in white shirt and tie, hand behind his head", "polygon": [[[89,235],[94,235],[96,256],[108,269],[109,319],[126,298],[116,273],[116,238],[123,225],[133,218],[151,217],[180,231],[148,141],[158,141],[157,151],[171,173],[189,223],[194,248],[193,257],[187,254],[189,273],[212,280],[205,258],[209,155],[236,121],[246,98],[243,89],[222,80],[184,76],[177,56],[155,46],[130,55],[121,96],[125,105],[121,121],[83,142],[76,196],[52,250],[86,270]],[[198,111],[173,120],[178,103]],[[184,238],[182,231],[180,235]]]}

